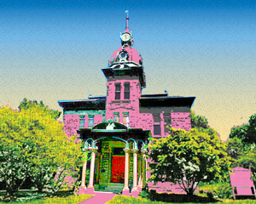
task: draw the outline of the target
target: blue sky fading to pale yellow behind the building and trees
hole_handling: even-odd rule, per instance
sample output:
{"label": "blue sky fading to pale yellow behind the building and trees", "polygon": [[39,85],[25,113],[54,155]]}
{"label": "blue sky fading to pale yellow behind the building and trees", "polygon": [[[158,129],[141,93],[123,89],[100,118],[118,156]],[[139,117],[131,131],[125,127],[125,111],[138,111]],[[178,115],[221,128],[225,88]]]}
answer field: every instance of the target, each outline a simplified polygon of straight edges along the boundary
{"label": "blue sky fading to pale yellow behind the building and trees", "polygon": [[[256,113],[255,1],[2,1],[0,106],[106,95],[101,69],[125,11],[143,56],[143,94],[195,96],[222,139]],[[62,115],[61,115],[62,120]]]}

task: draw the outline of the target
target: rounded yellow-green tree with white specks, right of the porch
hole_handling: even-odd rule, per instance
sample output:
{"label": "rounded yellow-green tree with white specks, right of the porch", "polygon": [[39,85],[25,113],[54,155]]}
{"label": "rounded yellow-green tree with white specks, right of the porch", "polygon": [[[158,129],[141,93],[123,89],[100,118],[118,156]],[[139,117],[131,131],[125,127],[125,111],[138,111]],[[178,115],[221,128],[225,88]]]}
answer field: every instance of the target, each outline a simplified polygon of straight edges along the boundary
{"label": "rounded yellow-green tree with white specks, right of the porch", "polygon": [[223,181],[230,171],[230,161],[218,135],[192,128],[189,132],[171,128],[171,135],[152,139],[148,163],[148,181],[178,183],[193,195],[199,182]]}

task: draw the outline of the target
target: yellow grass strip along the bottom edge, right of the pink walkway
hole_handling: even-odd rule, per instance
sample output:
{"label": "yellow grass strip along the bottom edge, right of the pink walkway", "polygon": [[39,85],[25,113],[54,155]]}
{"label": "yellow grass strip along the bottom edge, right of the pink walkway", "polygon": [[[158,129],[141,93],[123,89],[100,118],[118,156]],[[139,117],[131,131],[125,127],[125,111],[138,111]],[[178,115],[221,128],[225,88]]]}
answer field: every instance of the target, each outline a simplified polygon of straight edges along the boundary
{"label": "yellow grass strip along the bottom edge, right of the pink walkway", "polygon": [[[197,202],[163,202],[163,201],[150,201],[146,198],[134,198],[134,197],[128,197],[125,195],[116,195],[113,197],[112,200],[106,202],[106,204],[170,204],[170,203],[179,203],[179,204],[192,204]],[[200,201],[198,203],[207,203],[207,204],[224,204],[224,203],[235,203],[235,204],[256,204],[256,200],[223,200],[223,201],[215,201],[215,202],[203,202]]]}

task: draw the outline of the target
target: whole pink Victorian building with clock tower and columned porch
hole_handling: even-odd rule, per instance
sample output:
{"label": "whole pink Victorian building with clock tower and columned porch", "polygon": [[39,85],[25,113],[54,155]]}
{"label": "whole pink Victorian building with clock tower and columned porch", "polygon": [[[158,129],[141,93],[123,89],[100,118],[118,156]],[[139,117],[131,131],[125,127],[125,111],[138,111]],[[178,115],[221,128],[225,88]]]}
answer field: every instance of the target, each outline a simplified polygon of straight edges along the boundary
{"label": "whole pink Victorian building with clock tower and columned porch", "polygon": [[[195,97],[142,94],[146,88],[143,58],[132,48],[133,37],[126,17],[125,32],[120,35],[121,47],[102,69],[107,79],[107,95],[88,99],[60,100],[64,130],[67,135],[79,133],[84,150],[91,160],[84,163],[80,192],[95,190],[122,191],[137,196],[150,177],[145,154],[148,137],[168,135],[167,126],[190,129],[190,108]],[[171,85],[171,84],[170,84]],[[90,176],[86,177],[86,169]],[[87,187],[86,187],[87,186]],[[179,192],[177,184],[148,183],[149,189]]]}

